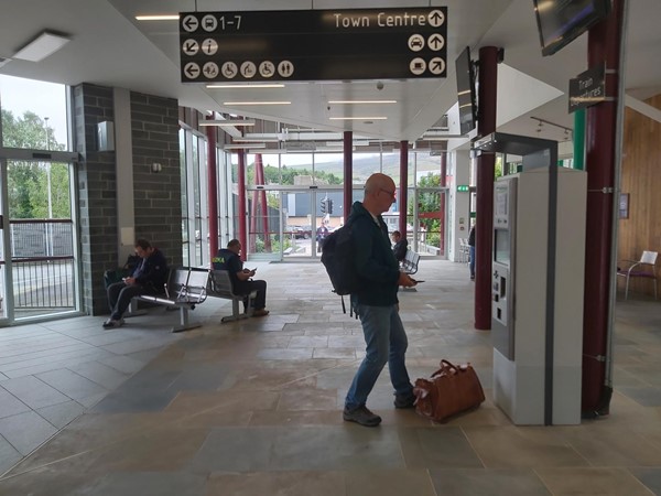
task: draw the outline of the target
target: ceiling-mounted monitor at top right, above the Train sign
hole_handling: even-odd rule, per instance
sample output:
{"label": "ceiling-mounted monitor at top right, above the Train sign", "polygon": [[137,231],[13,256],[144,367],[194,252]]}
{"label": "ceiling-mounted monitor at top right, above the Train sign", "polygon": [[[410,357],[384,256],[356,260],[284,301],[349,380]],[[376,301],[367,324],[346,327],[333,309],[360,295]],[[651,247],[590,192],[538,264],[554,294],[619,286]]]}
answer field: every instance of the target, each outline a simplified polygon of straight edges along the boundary
{"label": "ceiling-mounted monitor at top right, above the Train sign", "polygon": [[576,40],[610,13],[610,0],[533,0],[542,55]]}

